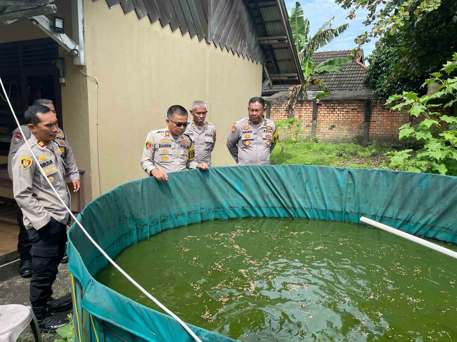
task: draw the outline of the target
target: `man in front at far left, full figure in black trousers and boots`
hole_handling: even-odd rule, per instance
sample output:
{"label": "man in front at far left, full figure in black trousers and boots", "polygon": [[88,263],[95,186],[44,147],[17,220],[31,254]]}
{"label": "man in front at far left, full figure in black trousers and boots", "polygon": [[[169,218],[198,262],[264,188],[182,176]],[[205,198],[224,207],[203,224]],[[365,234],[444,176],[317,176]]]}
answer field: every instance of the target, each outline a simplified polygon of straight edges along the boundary
{"label": "man in front at far left, full figure in black trousers and boots", "polygon": [[[55,196],[52,187],[64,203],[70,206],[70,192],[65,184],[64,161],[58,143],[56,114],[41,104],[30,106],[25,113],[32,136],[22,145],[13,158],[13,191],[19,208],[24,214],[24,226],[32,241],[32,279],[30,302],[38,325],[44,332],[54,331],[69,321],[54,316],[53,312],[66,311],[71,301],[52,298],[52,285],[58,273],[58,264],[64,255],[69,212]],[[37,162],[44,171],[40,172]]]}

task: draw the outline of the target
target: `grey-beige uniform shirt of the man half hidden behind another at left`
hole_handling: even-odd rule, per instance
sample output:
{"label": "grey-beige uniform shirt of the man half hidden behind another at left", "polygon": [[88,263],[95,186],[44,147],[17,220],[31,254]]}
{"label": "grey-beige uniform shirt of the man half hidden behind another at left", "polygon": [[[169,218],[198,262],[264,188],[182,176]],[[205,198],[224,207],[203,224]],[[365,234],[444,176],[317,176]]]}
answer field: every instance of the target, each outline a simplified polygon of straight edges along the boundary
{"label": "grey-beige uniform shirt of the man half hidden behind another at left", "polygon": [[[25,136],[22,136],[19,128],[16,128],[13,132],[13,137],[10,143],[10,152],[8,153],[8,175],[11,179],[13,179],[13,157],[16,155],[17,150],[25,144],[26,140],[29,140],[32,137],[32,131],[26,124],[23,124],[21,128]],[[67,136],[62,129],[58,130],[55,142],[58,144],[58,153],[64,160],[65,175],[69,176],[72,181],[79,180],[80,172],[78,171],[78,166],[76,166],[76,161],[74,161],[73,150],[71,149]]]}

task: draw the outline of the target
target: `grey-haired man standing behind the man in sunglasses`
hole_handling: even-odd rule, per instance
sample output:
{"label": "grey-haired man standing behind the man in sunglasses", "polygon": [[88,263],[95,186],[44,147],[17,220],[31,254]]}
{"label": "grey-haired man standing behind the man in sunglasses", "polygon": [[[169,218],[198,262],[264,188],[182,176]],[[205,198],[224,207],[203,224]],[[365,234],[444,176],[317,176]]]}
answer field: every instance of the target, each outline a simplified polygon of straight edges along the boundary
{"label": "grey-haired man standing behind the man in sunglasses", "polygon": [[192,102],[193,118],[184,133],[189,135],[194,143],[195,161],[211,166],[211,152],[216,145],[216,127],[205,121],[207,113],[207,106],[203,101]]}

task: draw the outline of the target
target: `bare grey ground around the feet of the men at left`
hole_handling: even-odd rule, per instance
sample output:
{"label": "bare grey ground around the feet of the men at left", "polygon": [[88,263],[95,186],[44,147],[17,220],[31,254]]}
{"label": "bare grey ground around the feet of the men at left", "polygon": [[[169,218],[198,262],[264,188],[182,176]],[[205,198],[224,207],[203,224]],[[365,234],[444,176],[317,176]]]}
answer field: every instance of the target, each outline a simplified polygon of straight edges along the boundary
{"label": "bare grey ground around the feet of the men at left", "polygon": [[[29,301],[29,284],[30,278],[21,278],[18,275],[19,262],[9,264],[0,268],[0,305],[21,304],[30,306]],[[54,298],[67,301],[71,300],[71,284],[67,264],[59,265],[59,273],[53,284]],[[56,315],[62,318],[71,312],[60,312]],[[56,334],[43,334],[43,342],[51,342],[60,336]],[[17,342],[33,342],[33,335],[30,329],[26,328],[18,337]]]}

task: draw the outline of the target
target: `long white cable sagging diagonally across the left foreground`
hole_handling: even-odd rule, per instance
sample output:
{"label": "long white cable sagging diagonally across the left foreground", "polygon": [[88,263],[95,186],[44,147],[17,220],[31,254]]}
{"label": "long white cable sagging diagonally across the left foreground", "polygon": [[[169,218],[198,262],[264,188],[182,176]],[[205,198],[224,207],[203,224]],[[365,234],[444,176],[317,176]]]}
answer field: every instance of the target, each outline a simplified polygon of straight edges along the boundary
{"label": "long white cable sagging diagonally across the left foreground", "polygon": [[[21,125],[19,124],[19,121],[17,120],[17,117],[16,117],[16,114],[14,113],[14,110],[13,110],[13,107],[11,106],[11,103],[10,103],[10,99],[8,98],[8,95],[6,94],[6,90],[5,90],[5,87],[3,87],[3,82],[0,78],[0,84],[1,84],[1,88],[3,89],[3,92],[5,93],[5,96],[6,96],[6,100],[8,101],[8,104],[10,105],[10,109],[11,109],[11,113],[13,113],[13,116],[14,116],[14,119],[16,120],[16,124],[17,124],[17,127],[19,127],[19,130],[21,131],[21,134],[22,136],[25,136],[24,135],[24,132],[22,131],[22,128],[21,128]],[[41,172],[41,174],[43,175],[43,177],[48,181],[48,184],[52,187],[56,197],[59,199],[59,201],[62,203],[62,205],[65,207],[65,209],[70,213],[70,216],[74,219],[74,222],[76,224],[78,224],[78,226],[80,226],[81,230],[85,233],[85,235],[87,236],[87,238],[89,238],[90,242],[92,244],[94,244],[94,246],[100,251],[101,254],[103,254],[103,256],[108,259],[108,261],[114,266],[117,268],[117,270],[119,272],[122,273],[122,275],[124,275],[128,280],[130,280],[130,282],[135,285],[141,292],[143,292],[144,295],[146,295],[151,301],[154,301],[155,304],[157,304],[162,310],[164,310],[166,313],[168,313],[171,317],[173,317],[176,321],[179,322],[179,324],[181,324],[181,326],[183,326],[184,329],[186,329],[186,331],[189,333],[189,335],[191,335],[191,337],[193,337],[197,342],[202,342],[198,337],[197,335],[195,335],[194,332],[191,331],[191,329],[186,325],[186,323],[184,323],[183,321],[181,321],[181,319],[176,316],[173,312],[171,312],[170,310],[168,310],[162,303],[160,303],[157,299],[154,298],[153,295],[149,294],[148,291],[144,290],[143,287],[141,285],[139,285],[135,280],[133,280],[133,278],[128,275],[122,268],[120,268],[109,256],[108,254],[105,253],[105,251],[103,249],[101,249],[101,247],[94,241],[94,239],[89,235],[89,233],[87,233],[87,231],[84,229],[84,227],[82,226],[82,224],[74,217],[73,215],[73,212],[71,212],[71,210],[67,207],[67,205],[64,203],[64,201],[62,200],[62,198],[60,198],[60,196],[58,195],[56,189],[53,187],[53,185],[51,184],[51,182],[49,181],[48,177],[46,176],[46,174],[44,173],[43,171],[43,168],[41,167],[40,163],[38,162],[38,159],[37,159],[37,156],[33,153],[32,151],[32,148],[30,147],[29,143],[27,140],[26,141],[26,144],[27,144],[27,147],[29,148],[30,152],[32,153],[32,157],[33,159],[35,160],[35,162],[37,163],[38,165],[38,168]]]}

